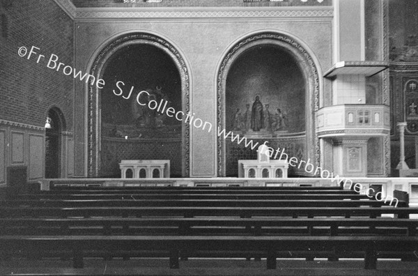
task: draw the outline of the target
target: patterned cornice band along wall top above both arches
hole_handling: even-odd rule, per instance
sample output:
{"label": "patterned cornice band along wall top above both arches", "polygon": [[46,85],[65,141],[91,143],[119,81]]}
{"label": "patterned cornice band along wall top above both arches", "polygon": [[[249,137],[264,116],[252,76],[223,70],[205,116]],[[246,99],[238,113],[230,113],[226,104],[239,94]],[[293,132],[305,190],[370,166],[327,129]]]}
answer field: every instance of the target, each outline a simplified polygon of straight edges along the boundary
{"label": "patterned cornice band along wall top above both arches", "polygon": [[240,17],[332,17],[325,7],[162,7],[76,8],[70,0],[54,0],[73,20],[121,18],[240,18]]}

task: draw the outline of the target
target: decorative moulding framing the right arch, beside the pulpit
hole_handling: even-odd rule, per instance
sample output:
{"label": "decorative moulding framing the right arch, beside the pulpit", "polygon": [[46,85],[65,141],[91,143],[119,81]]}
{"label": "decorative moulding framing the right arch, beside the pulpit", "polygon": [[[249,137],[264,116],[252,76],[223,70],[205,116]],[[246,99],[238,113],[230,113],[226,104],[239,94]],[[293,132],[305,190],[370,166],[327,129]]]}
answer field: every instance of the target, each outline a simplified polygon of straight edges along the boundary
{"label": "decorative moulding framing the right arch, beside the pulpit", "polygon": [[[225,104],[226,104],[226,77],[233,61],[250,47],[256,45],[276,45],[285,49],[300,64],[300,69],[306,80],[306,144],[307,155],[315,160],[317,166],[320,164],[320,145],[318,135],[315,131],[315,112],[319,109],[320,98],[320,75],[314,58],[307,49],[295,38],[284,33],[274,31],[263,31],[253,33],[238,40],[226,54],[220,63],[217,72],[217,126],[220,129],[226,127]],[[217,175],[226,175],[226,144],[222,137],[217,137]]]}

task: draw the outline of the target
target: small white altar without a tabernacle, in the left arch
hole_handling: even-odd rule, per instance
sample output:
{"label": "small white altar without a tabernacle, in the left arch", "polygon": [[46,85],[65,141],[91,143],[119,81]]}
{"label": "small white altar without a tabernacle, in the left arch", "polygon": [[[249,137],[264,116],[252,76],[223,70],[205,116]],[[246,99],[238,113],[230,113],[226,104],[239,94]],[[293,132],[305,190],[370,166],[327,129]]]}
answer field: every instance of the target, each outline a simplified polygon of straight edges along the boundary
{"label": "small white altar without a tabernacle, in the left arch", "polygon": [[169,178],[170,160],[121,160],[121,178]]}

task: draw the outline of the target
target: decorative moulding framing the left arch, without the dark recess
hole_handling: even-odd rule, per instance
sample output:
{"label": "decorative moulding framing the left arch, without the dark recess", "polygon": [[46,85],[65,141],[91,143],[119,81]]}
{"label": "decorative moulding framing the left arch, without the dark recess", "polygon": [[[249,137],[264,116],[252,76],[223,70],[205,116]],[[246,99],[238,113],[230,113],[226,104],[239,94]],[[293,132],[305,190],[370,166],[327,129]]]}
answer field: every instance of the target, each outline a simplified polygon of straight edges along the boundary
{"label": "decorative moulding framing the left arch, without the dark recess", "polygon": [[[89,70],[90,74],[93,75],[96,79],[102,77],[104,68],[106,68],[107,61],[109,58],[118,52],[118,50],[123,49],[128,45],[136,44],[147,44],[153,45],[162,49],[166,54],[168,54],[173,62],[178,68],[181,79],[181,93],[182,93],[182,109],[185,114],[189,112],[189,99],[190,99],[190,77],[189,70],[187,68],[187,63],[183,56],[180,54],[178,49],[174,47],[164,38],[157,36],[151,33],[144,32],[134,32],[134,33],[125,33],[114,40],[111,40],[109,43],[102,47],[101,51],[95,57],[93,63],[91,64],[91,69]],[[100,169],[100,90],[95,84],[89,83],[86,86],[87,91],[87,169],[88,176],[94,177],[98,176]],[[184,177],[189,176],[189,125],[182,124],[182,174]]]}

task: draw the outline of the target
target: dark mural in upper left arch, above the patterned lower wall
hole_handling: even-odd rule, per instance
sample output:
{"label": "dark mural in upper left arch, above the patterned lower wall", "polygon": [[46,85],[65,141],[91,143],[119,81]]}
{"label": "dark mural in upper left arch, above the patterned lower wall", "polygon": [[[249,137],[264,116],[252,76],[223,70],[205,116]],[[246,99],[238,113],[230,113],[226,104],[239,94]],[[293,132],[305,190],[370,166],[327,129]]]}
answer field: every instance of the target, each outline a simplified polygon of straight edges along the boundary
{"label": "dark mural in upper left arch, above the patterned lower wall", "polygon": [[[103,78],[107,83],[119,82],[102,90],[103,137],[181,138],[180,121],[147,106],[150,100],[162,100],[167,101],[169,107],[182,109],[179,72],[171,57],[162,49],[141,44],[127,46],[108,61]],[[114,91],[123,91],[122,97],[118,97]],[[139,102],[145,105],[137,102],[137,95],[141,91],[148,92],[139,96]]]}

